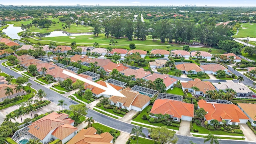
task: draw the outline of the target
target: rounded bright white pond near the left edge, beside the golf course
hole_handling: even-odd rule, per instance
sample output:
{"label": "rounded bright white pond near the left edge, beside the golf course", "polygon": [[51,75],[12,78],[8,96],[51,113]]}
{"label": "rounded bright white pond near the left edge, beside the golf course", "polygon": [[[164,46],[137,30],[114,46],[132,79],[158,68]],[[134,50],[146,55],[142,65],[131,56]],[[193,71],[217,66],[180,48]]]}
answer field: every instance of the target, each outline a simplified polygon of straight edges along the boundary
{"label": "rounded bright white pond near the left edge, beside the golf course", "polygon": [[9,26],[2,30],[7,36],[9,36],[12,39],[20,40],[20,36],[18,36],[19,32],[22,32],[20,26],[13,26],[14,24],[8,24]]}

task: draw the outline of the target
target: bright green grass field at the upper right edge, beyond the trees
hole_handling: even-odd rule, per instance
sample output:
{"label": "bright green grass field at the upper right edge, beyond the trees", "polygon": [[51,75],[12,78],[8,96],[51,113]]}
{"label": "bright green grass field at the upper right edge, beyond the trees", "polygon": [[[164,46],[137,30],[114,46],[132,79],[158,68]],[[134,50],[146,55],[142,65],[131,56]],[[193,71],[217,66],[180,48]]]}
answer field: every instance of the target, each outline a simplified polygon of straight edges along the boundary
{"label": "bright green grass field at the upper right edge, beyond the trees", "polygon": [[[244,29],[243,29],[244,28]],[[247,36],[251,38],[256,37],[256,24],[242,24],[242,27],[239,28],[238,34],[234,35],[234,38],[245,38]]]}

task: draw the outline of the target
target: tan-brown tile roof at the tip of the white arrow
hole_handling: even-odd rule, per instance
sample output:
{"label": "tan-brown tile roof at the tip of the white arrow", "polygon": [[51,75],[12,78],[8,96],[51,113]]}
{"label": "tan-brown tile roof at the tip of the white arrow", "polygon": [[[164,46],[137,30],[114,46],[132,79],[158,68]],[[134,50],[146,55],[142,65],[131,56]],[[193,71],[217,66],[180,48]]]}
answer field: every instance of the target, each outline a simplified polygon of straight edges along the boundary
{"label": "tan-brown tile roof at the tip of the white arrow", "polygon": [[130,88],[123,89],[121,93],[126,97],[111,96],[109,100],[111,100],[114,103],[120,102],[123,106],[126,107],[130,107],[132,105],[138,108],[142,108],[151,99],[149,96],[140,94],[139,92],[131,90]]}

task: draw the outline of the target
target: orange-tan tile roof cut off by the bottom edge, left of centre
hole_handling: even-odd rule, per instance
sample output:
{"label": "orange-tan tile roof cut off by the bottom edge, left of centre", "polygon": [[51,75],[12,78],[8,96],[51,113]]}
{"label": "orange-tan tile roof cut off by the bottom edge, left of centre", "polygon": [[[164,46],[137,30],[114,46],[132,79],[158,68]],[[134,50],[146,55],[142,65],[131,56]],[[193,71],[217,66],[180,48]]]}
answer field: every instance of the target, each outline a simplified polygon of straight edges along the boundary
{"label": "orange-tan tile roof cut off by the bottom edge, left of centre", "polygon": [[82,129],[67,144],[111,144],[114,137],[110,133],[96,134],[96,132],[94,127]]}

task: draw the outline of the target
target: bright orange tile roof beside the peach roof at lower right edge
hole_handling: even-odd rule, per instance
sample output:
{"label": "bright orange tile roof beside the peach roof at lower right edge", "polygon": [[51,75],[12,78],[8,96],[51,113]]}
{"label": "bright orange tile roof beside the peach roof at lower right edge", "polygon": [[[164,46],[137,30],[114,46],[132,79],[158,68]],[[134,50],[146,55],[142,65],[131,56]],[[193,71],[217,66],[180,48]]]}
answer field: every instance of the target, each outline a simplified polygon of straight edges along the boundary
{"label": "bright orange tile roof beside the peach roof at lower right edge", "polygon": [[227,118],[231,122],[240,122],[239,119],[249,119],[235,104],[208,103],[205,100],[199,100],[197,104],[200,108],[204,108],[208,112],[204,116],[206,120],[215,119],[221,122]]}

